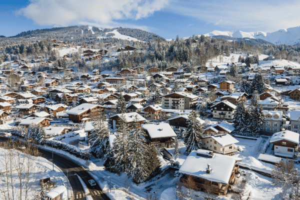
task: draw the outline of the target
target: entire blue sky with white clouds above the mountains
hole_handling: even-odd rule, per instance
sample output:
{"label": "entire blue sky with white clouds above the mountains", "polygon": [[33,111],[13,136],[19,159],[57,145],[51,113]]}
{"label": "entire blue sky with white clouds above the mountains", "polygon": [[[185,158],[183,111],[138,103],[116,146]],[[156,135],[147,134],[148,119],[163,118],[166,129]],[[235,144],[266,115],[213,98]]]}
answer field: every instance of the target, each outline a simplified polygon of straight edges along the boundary
{"label": "entire blue sky with white clouds above the mountains", "polygon": [[300,25],[299,0],[1,0],[0,35],[69,25],[140,28],[166,39]]}

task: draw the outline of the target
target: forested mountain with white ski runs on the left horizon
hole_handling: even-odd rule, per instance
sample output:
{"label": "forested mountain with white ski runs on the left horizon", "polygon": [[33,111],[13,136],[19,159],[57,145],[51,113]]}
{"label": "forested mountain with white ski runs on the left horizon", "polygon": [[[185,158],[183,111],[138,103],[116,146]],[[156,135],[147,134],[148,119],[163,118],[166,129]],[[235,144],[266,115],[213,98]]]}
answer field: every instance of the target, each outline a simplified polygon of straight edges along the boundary
{"label": "forested mountain with white ski runs on the left horizon", "polygon": [[[102,36],[105,35],[105,38]],[[36,30],[28,30],[21,32],[11,37],[36,37],[36,38],[55,38],[56,40],[67,40],[72,39],[78,41],[80,38],[85,37],[86,40],[100,38],[102,36],[105,40],[107,39],[120,39],[129,41],[150,41],[154,39],[165,40],[163,37],[147,32],[145,30],[137,28],[99,28],[95,26],[67,26],[67,27],[53,27]]]}

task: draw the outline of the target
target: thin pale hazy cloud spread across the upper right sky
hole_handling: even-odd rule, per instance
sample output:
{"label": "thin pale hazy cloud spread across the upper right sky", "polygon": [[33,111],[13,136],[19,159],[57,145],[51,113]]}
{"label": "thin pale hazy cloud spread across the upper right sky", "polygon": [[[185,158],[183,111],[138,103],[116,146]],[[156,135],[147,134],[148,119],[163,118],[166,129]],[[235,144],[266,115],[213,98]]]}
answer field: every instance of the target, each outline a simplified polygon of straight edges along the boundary
{"label": "thin pale hazy cloud spread across the upper right sky", "polygon": [[166,10],[227,30],[275,31],[300,25],[299,7],[297,0],[176,0]]}

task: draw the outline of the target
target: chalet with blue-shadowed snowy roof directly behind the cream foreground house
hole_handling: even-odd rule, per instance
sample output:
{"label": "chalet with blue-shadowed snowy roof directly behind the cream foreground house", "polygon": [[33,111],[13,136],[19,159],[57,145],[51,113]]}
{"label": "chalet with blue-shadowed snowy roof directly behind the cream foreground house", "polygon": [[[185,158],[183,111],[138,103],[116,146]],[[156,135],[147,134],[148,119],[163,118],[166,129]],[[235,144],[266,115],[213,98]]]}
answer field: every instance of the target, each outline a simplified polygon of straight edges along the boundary
{"label": "chalet with blue-shadowed snowy roof directly behind the cream foreground house", "polygon": [[221,121],[205,128],[203,135],[209,136],[224,133],[230,134],[233,130],[234,127],[231,123],[228,123],[227,121]]}

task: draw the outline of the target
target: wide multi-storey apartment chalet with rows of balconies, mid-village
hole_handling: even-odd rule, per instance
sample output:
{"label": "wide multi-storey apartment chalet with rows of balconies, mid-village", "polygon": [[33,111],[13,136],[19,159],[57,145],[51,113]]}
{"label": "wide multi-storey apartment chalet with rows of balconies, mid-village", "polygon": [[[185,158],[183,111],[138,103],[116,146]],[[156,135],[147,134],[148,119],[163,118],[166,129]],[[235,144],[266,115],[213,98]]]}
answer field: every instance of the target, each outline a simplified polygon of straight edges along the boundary
{"label": "wide multi-storey apartment chalet with rows of balconies, mid-village", "polygon": [[191,109],[196,106],[198,96],[190,93],[173,92],[161,97],[162,108],[169,109]]}

